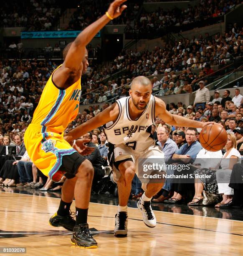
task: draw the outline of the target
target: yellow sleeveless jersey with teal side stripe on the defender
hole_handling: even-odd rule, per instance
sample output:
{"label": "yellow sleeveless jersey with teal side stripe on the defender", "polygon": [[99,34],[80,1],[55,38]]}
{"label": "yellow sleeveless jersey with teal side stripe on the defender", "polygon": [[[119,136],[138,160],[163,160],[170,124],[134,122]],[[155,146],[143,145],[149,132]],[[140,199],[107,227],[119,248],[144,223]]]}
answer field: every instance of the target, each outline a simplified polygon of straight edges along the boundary
{"label": "yellow sleeveless jersey with teal side stripe on the defender", "polygon": [[53,73],[42,92],[31,123],[51,128],[56,133],[63,133],[68,123],[78,114],[81,78],[66,90],[58,89],[52,79]]}

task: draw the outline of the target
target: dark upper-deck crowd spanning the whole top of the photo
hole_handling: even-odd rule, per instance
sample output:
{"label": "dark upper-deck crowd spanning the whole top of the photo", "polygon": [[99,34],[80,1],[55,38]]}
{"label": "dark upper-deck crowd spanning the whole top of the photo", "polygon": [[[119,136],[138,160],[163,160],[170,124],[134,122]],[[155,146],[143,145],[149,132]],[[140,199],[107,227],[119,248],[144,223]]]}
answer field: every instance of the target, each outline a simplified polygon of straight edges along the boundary
{"label": "dark upper-deck crowd spanning the whole top of the photo", "polygon": [[[172,26],[183,26],[197,21],[205,21],[208,18],[216,18],[224,15],[235,5],[242,3],[240,0],[206,1],[201,0],[198,6],[188,5],[182,10],[174,8],[156,12],[139,14],[142,3],[137,1],[127,2],[127,10],[124,15],[111,20],[109,24],[127,25],[127,33],[146,34],[154,31],[162,31]],[[158,1],[150,1],[158,2]],[[109,7],[109,1],[94,0],[92,5],[89,0],[78,3],[77,10],[73,13],[68,30],[82,30],[101,17]],[[56,0],[30,0],[19,5],[18,1],[3,3],[1,6],[1,25],[3,27],[25,27],[28,31],[48,31],[56,25],[61,15],[61,8],[57,8]],[[26,15],[28,13],[28,15]],[[139,16],[139,17],[138,17]],[[132,27],[131,27],[132,26]],[[133,31],[133,32],[132,32]]]}

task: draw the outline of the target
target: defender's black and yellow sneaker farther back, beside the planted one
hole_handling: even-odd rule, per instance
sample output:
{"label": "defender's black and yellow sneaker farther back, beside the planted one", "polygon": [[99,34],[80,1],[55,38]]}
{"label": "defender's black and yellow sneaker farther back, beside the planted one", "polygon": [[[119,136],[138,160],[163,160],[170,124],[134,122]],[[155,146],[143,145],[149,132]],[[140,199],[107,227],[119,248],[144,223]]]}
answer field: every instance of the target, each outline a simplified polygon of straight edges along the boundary
{"label": "defender's black and yellow sneaker farther back, beside the planted one", "polygon": [[53,214],[49,220],[49,224],[54,227],[63,227],[67,230],[73,231],[76,221],[74,220],[75,213],[71,212],[67,216],[58,215],[57,212]]}

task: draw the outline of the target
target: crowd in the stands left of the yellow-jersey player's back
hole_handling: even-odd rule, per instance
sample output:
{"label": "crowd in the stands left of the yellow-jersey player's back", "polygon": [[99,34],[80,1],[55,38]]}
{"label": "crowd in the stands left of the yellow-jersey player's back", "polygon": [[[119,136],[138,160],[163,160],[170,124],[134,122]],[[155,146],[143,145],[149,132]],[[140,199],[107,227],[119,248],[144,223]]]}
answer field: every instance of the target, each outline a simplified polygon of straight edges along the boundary
{"label": "crowd in the stands left of the yellow-jersey player's back", "polygon": [[0,134],[24,133],[53,70],[51,61],[0,61]]}

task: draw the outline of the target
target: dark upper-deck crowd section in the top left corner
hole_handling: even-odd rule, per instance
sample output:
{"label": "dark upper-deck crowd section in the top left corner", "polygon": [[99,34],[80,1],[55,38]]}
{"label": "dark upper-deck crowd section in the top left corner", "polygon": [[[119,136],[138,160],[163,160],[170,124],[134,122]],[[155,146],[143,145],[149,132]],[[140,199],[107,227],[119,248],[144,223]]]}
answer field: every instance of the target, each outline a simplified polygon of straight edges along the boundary
{"label": "dark upper-deck crowd section in the top left corner", "polygon": [[56,0],[13,0],[0,7],[0,26],[25,27],[27,31],[48,31],[60,17],[61,9]]}

